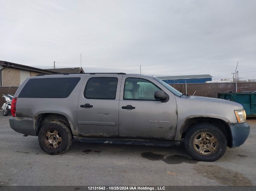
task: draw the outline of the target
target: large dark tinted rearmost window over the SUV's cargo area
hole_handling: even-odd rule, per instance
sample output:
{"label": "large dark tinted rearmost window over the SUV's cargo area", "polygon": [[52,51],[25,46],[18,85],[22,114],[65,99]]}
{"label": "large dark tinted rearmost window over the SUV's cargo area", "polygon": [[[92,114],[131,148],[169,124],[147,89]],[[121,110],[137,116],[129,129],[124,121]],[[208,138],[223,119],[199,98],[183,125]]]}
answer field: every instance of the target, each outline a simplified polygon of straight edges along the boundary
{"label": "large dark tinted rearmost window over the SUV's cargo area", "polygon": [[34,78],[29,79],[18,97],[66,98],[81,78]]}

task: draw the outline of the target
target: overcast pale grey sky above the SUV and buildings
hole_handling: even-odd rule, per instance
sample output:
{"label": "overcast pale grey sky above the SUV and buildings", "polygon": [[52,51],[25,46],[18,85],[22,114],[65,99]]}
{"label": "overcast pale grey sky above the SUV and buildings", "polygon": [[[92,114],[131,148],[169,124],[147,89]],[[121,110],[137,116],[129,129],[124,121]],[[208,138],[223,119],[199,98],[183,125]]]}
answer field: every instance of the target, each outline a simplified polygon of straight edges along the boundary
{"label": "overcast pale grey sky above the SUV and buildings", "polygon": [[0,60],[79,67],[82,53],[85,72],[139,73],[141,65],[146,75],[213,79],[232,78],[240,61],[239,76],[256,78],[254,0],[0,0],[0,7]]}

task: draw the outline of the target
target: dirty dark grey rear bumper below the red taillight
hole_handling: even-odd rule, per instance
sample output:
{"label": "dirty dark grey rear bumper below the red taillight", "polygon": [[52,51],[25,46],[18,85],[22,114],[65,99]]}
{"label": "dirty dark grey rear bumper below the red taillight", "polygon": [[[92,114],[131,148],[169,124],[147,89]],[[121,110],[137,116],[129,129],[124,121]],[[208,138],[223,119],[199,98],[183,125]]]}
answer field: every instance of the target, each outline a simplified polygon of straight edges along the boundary
{"label": "dirty dark grey rear bumper below the red taillight", "polygon": [[11,117],[9,123],[11,128],[18,133],[37,136],[34,119],[30,117]]}

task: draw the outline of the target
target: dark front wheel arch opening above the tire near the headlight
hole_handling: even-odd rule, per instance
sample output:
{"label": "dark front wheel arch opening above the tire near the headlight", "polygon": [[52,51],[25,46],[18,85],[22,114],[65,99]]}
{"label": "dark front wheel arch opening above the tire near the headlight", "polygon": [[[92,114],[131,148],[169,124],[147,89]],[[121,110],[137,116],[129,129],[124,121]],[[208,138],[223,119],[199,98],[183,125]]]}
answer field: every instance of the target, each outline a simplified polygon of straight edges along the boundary
{"label": "dark front wheel arch opening above the tire near the headlight", "polygon": [[213,117],[193,117],[193,118],[186,120],[186,122],[183,126],[181,138],[185,137],[185,134],[188,131],[188,129],[191,126],[193,126],[194,124],[205,123],[205,122],[211,123],[211,124],[215,125],[216,127],[218,127],[223,132],[225,137],[227,138],[227,146],[228,147],[232,146],[232,134],[231,134],[231,130],[230,130],[228,123],[222,119],[213,118]]}

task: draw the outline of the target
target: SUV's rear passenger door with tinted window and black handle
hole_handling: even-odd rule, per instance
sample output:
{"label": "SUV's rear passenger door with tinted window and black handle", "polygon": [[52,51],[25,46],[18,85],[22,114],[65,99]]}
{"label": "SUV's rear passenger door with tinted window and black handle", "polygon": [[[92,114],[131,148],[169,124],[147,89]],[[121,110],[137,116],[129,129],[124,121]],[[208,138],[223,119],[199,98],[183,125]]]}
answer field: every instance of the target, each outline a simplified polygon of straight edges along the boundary
{"label": "SUV's rear passenger door with tinted window and black handle", "polygon": [[118,137],[118,108],[122,75],[88,75],[77,108],[81,136]]}

